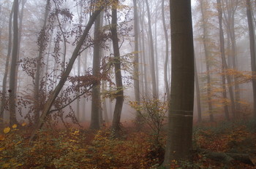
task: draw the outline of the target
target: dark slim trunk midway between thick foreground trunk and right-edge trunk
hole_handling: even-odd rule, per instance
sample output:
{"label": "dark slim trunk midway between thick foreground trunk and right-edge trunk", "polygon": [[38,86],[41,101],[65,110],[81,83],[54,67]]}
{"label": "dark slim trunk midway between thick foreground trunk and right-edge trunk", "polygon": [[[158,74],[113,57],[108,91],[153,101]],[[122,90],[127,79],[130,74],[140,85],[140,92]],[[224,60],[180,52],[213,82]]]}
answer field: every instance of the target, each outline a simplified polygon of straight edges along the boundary
{"label": "dark slim trunk midway between thick foreground trunk and right-edge trunk", "polygon": [[224,111],[225,111],[225,119],[230,120],[228,108],[227,108],[227,90],[226,90],[226,78],[225,78],[225,65],[226,65],[226,57],[225,57],[225,40],[224,33],[222,28],[222,4],[220,0],[217,0],[217,10],[218,10],[218,20],[219,20],[219,51],[222,58],[222,96],[225,100],[224,103]]}

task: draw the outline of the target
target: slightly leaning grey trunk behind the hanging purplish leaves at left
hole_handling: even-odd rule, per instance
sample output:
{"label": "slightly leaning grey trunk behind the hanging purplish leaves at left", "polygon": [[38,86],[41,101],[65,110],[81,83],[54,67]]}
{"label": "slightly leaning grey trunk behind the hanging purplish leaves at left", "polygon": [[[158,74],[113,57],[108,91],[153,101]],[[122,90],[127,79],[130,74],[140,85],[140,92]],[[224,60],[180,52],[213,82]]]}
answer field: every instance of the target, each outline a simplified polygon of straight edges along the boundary
{"label": "slightly leaning grey trunk behind the hanging purplish leaves at left", "polygon": [[39,51],[37,56],[37,69],[34,79],[34,124],[37,124],[39,122],[39,111],[41,111],[40,108],[40,99],[39,99],[39,88],[40,88],[40,80],[41,80],[41,68],[42,68],[42,56],[43,52],[45,50],[45,47],[47,46],[47,37],[45,36],[45,29],[47,24],[47,18],[50,12],[50,0],[46,1],[45,5],[45,16],[44,16],[44,23],[42,24],[41,33],[39,35]]}

